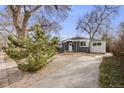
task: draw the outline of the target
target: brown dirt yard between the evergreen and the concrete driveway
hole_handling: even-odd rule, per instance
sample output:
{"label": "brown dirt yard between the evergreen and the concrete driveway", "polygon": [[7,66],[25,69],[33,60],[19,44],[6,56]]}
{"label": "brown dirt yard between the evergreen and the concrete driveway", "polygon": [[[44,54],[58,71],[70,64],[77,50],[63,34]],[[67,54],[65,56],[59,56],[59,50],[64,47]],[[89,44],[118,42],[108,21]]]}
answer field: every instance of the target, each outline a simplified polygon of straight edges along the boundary
{"label": "brown dirt yard between the evergreen and the concrete driveway", "polygon": [[[62,53],[55,55],[55,59],[50,62],[46,67],[37,71],[36,73],[24,73],[17,68],[16,62],[5,56],[2,61],[6,66],[3,70],[6,71],[6,79],[1,79],[2,85],[0,87],[31,87],[40,80],[48,77],[49,75],[57,72],[65,66],[74,62],[74,60],[86,61],[94,60],[97,55],[87,53]],[[3,56],[2,56],[3,57]],[[1,65],[1,64],[0,64]],[[2,66],[2,65],[1,65]],[[0,69],[2,72],[2,70]]]}

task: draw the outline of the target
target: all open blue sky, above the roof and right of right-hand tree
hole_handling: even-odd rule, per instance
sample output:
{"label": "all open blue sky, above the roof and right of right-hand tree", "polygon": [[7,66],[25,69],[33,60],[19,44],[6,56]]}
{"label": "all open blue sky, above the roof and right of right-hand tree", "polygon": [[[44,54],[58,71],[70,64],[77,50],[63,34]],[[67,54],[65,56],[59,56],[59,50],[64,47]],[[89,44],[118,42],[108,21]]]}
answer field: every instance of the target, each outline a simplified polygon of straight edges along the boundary
{"label": "all open blue sky, above the roof and right of right-hand tree", "polygon": [[[81,34],[77,31],[76,23],[79,17],[82,17],[86,12],[91,11],[93,6],[73,6],[71,12],[69,13],[66,20],[62,23],[63,29],[60,31],[61,39],[73,37],[73,36],[83,36],[87,37],[87,34]],[[119,27],[120,22],[124,22],[124,7],[120,8],[120,13],[112,20],[112,26],[115,30]]]}

